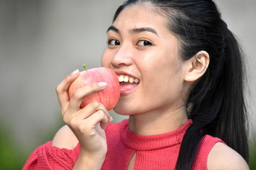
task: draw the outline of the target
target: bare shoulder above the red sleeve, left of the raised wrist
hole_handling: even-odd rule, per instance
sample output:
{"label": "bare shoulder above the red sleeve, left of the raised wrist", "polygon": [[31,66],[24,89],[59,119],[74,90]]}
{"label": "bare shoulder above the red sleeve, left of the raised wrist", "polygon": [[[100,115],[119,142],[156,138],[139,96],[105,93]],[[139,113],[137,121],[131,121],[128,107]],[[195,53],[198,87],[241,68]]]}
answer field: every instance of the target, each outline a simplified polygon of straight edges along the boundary
{"label": "bare shoulder above the red sleeve, left of the raised wrist", "polygon": [[78,138],[75,137],[75,134],[70,130],[68,125],[64,125],[53,137],[52,146],[65,148],[65,149],[74,149],[78,145]]}

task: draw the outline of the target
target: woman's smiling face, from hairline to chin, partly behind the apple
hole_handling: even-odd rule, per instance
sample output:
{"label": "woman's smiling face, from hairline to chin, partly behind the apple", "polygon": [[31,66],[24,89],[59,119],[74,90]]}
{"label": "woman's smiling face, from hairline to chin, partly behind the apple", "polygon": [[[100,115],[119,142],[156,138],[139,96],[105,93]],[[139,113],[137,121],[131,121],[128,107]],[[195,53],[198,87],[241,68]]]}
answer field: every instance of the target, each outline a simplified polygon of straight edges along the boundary
{"label": "woman's smiling face, from hairline to chin, partly behind the apple", "polygon": [[145,4],[127,6],[108,29],[107,38],[102,67],[113,69],[122,81],[115,112],[164,112],[183,105],[185,69],[178,39],[167,28],[166,18]]}

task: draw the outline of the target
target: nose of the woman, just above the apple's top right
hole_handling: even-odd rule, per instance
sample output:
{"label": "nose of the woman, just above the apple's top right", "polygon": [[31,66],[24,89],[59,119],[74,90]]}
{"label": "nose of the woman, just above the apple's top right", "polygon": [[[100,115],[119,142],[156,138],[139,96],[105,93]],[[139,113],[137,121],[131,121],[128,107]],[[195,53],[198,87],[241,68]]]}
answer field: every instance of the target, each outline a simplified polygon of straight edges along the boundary
{"label": "nose of the woman, just above the apple's top right", "polygon": [[132,56],[133,50],[129,45],[120,45],[112,58],[112,65],[114,67],[129,66],[132,64]]}

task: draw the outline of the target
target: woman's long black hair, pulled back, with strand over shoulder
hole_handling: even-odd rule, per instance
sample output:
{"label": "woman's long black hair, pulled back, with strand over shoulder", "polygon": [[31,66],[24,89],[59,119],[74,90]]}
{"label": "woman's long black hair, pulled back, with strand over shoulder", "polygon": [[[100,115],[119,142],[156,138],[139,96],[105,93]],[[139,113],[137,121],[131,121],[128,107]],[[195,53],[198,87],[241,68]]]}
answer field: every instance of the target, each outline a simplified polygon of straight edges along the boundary
{"label": "woman's long black hair, pulled back, with strand over shoulder", "polygon": [[181,142],[176,169],[191,169],[198,145],[207,134],[219,137],[248,162],[242,50],[218,7],[212,0],[129,0],[119,6],[113,22],[126,6],[139,3],[148,3],[167,18],[169,29],[180,42],[183,60],[201,50],[210,55],[206,73],[186,101],[193,124]]}

